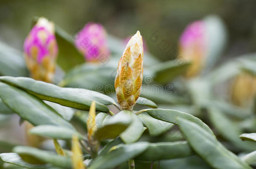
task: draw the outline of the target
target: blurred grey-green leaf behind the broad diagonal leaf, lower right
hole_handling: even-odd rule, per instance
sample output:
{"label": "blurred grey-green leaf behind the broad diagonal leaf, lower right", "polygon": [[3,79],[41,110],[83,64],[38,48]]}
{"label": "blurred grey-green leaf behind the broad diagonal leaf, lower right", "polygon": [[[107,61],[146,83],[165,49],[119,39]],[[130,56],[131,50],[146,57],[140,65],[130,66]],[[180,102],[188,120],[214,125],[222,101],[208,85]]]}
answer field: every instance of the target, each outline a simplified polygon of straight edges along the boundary
{"label": "blurred grey-green leaf behind the broad diagonal leaf, lower right", "polygon": [[209,109],[210,121],[215,129],[221,134],[225,139],[234,144],[237,148],[241,150],[251,151],[256,149],[256,144],[250,142],[243,142],[239,139],[239,135],[242,134],[242,130],[237,124],[228,119],[225,114],[216,108]]}

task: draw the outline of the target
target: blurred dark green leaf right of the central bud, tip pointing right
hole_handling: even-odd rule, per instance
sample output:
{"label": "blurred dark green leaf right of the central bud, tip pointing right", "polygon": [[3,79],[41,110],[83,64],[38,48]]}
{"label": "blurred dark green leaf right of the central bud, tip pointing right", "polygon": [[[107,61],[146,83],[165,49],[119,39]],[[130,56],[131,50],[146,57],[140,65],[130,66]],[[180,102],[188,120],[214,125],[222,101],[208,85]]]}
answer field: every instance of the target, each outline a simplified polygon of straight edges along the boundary
{"label": "blurred dark green leaf right of the central bud, tip pointing right", "polygon": [[159,83],[167,84],[168,82],[172,81],[172,79],[176,76],[184,73],[189,65],[190,63],[185,61],[184,59],[177,59],[159,63],[152,68],[154,71],[154,80]]}

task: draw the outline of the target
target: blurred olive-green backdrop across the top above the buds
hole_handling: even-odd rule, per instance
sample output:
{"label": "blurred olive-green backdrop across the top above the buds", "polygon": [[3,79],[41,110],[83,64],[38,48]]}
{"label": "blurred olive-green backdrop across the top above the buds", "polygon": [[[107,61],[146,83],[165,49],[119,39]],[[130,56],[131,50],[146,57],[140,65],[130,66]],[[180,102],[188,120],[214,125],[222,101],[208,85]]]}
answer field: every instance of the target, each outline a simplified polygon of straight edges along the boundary
{"label": "blurred olive-green backdrop across the top above the buds", "polygon": [[1,0],[0,40],[22,50],[34,16],[44,16],[72,35],[93,21],[120,38],[140,30],[149,51],[165,61],[169,58],[150,41],[152,33],[157,30],[159,38],[176,50],[188,23],[217,14],[229,33],[222,57],[226,60],[256,51],[255,8],[255,0]]}

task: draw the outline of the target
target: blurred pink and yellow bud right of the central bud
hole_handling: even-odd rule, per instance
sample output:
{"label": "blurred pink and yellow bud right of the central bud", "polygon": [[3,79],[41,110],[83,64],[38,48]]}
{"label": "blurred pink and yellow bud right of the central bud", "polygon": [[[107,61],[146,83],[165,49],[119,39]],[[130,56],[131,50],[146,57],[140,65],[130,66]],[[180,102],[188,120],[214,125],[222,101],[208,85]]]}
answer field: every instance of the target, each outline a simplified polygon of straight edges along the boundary
{"label": "blurred pink and yellow bud right of the central bud", "polygon": [[206,28],[203,21],[195,21],[185,28],[179,42],[179,58],[191,62],[185,76],[200,73],[206,62]]}

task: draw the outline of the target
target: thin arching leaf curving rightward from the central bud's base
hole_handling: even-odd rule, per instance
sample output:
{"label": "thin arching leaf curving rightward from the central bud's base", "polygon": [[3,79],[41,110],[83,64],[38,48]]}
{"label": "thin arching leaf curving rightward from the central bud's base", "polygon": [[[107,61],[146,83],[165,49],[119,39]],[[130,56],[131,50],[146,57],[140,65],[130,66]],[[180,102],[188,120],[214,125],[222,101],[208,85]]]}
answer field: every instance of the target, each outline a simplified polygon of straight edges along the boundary
{"label": "thin arching leaf curving rightward from the central bud's base", "polygon": [[161,108],[145,109],[142,111],[147,112],[149,116],[152,116],[155,119],[166,121],[173,124],[178,124],[178,120],[177,120],[178,118],[187,119],[189,121],[195,122],[196,124],[199,124],[199,126],[201,126],[203,129],[208,131],[210,134],[214,135],[212,130],[209,128],[209,126],[207,126],[206,124],[204,124],[203,121],[196,118],[195,116],[192,116],[191,114],[187,114],[181,111],[161,109]]}

